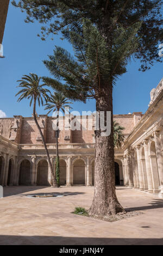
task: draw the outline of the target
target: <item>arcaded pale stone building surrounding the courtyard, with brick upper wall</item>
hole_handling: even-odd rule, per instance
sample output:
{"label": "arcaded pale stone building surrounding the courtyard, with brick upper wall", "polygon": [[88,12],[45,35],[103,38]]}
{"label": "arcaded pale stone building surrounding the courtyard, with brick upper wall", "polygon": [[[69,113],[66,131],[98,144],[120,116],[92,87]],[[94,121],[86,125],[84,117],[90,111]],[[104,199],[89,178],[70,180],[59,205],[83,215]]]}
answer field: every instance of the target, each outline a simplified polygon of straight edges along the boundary
{"label": "arcaded pale stone building surrounding the courtyard, with brick upper wall", "polygon": [[[134,187],[163,196],[163,79],[151,92],[145,114],[114,115],[124,129],[122,148],[115,149],[117,185]],[[67,129],[60,118],[59,132],[61,185],[92,186],[95,182],[95,115],[73,117],[80,130]],[[49,155],[55,166],[55,117],[39,115]],[[90,126],[91,124],[91,126]],[[33,117],[15,115],[0,119],[0,184],[49,185],[51,172],[45,149]]]}

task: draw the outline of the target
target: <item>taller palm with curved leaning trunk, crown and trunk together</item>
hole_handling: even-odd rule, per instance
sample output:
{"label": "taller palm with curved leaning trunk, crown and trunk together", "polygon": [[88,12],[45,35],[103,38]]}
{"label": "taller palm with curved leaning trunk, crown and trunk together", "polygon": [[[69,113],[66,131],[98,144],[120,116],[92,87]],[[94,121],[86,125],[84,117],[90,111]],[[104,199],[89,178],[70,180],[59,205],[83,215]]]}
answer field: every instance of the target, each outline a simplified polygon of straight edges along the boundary
{"label": "taller palm with curved leaning trunk, crown and trunk together", "polygon": [[36,74],[30,73],[29,76],[23,75],[22,79],[17,81],[17,82],[20,82],[19,86],[17,87],[20,87],[22,89],[15,96],[20,95],[17,100],[18,102],[20,102],[23,99],[30,99],[30,106],[32,105],[32,102],[33,102],[33,117],[34,117],[36,126],[39,129],[42,142],[46,150],[47,160],[48,160],[48,164],[52,174],[52,186],[58,187],[57,181],[55,179],[55,175],[53,172],[52,162],[49,157],[47,145],[45,142],[45,138],[43,137],[43,133],[40,129],[39,123],[36,118],[36,101],[38,102],[39,106],[40,106],[40,103],[43,106],[43,99],[47,101],[48,99],[47,93],[49,93],[48,89],[43,88],[46,86],[46,84],[45,83],[39,84],[40,81],[41,81],[41,77],[38,77]]}

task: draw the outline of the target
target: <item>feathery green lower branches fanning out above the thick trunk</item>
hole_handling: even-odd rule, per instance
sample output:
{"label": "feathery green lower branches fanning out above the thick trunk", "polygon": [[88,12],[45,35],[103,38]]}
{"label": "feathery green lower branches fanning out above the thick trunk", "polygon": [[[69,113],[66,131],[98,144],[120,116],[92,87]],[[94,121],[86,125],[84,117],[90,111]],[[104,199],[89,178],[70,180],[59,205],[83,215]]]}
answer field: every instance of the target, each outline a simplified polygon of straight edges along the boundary
{"label": "feathery green lower branches fanning out above the thick trunk", "polygon": [[117,29],[114,44],[110,48],[103,36],[89,20],[81,27],[65,31],[65,39],[73,46],[74,56],[67,50],[55,46],[52,56],[43,63],[55,79],[43,77],[43,81],[74,101],[96,99],[101,93],[101,84],[116,81],[126,72],[131,55],[139,47],[137,31],[141,22]]}

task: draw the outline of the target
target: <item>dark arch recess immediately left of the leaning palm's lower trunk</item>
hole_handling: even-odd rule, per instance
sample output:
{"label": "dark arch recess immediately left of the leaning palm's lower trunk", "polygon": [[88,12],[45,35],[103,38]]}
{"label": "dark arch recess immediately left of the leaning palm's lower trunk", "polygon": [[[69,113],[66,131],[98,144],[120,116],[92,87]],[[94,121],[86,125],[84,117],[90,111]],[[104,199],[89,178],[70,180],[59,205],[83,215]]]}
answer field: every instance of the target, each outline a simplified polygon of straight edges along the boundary
{"label": "dark arch recess immediately left of the leaning palm's lower trunk", "polygon": [[41,159],[37,162],[37,180],[36,184],[38,186],[48,186],[48,162],[46,159]]}

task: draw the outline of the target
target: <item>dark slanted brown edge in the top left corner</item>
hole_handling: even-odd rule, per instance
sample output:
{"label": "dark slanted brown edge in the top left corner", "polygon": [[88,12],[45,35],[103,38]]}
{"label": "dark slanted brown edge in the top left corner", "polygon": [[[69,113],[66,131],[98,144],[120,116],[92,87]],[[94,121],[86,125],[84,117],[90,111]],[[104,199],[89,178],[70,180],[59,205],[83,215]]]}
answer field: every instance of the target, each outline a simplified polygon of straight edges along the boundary
{"label": "dark slanted brown edge in the top left corner", "polygon": [[0,1],[0,44],[2,44],[2,40],[3,40],[4,27],[7,19],[7,14],[8,14],[9,2],[10,0]]}

